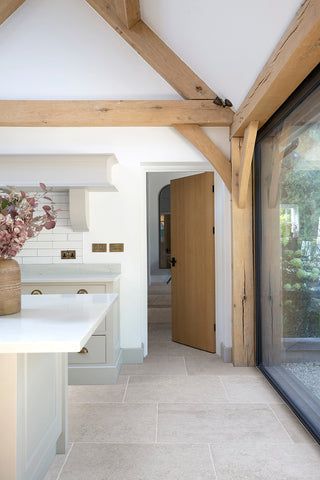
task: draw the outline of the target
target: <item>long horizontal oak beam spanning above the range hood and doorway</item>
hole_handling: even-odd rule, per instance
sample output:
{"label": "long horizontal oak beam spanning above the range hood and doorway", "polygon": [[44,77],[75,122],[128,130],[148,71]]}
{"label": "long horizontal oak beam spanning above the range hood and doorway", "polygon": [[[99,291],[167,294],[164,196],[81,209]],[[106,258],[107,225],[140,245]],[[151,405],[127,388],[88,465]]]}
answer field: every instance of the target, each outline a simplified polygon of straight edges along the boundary
{"label": "long horizontal oak beam spanning above the range hood and doorway", "polygon": [[0,100],[0,126],[230,126],[231,122],[231,110],[211,100]]}

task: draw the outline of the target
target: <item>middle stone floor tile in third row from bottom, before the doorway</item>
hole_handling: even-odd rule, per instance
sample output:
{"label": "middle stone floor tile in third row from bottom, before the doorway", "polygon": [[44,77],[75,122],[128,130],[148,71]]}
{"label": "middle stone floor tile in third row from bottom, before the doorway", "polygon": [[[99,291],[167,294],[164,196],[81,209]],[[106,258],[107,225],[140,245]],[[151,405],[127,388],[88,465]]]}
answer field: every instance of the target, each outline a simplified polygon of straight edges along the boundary
{"label": "middle stone floor tile in third row from bottom, before the doorway", "polygon": [[128,403],[223,403],[227,397],[218,377],[148,376],[130,377]]}

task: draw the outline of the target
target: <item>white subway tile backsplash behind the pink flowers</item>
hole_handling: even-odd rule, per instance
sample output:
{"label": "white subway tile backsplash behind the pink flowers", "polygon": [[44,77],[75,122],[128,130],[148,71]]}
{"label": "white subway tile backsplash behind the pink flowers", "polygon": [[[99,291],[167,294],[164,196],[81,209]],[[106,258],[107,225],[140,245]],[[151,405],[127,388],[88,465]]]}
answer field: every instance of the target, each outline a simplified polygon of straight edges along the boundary
{"label": "white subway tile backsplash behind the pink flowers", "polygon": [[[53,230],[42,230],[35,238],[26,242],[17,261],[21,264],[83,263],[83,234],[71,228],[69,196],[67,192],[50,192],[58,212],[57,226]],[[39,206],[48,203],[42,199]],[[75,260],[62,260],[61,250],[76,250]]]}

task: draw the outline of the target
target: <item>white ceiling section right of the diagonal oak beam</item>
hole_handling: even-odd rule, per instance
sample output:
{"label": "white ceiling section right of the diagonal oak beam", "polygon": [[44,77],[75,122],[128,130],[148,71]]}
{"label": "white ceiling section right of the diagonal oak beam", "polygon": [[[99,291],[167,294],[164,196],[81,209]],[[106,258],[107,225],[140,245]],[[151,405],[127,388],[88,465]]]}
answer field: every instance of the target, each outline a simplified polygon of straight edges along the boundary
{"label": "white ceiling section right of the diagonal oak beam", "polygon": [[142,18],[237,108],[301,0],[140,0]]}

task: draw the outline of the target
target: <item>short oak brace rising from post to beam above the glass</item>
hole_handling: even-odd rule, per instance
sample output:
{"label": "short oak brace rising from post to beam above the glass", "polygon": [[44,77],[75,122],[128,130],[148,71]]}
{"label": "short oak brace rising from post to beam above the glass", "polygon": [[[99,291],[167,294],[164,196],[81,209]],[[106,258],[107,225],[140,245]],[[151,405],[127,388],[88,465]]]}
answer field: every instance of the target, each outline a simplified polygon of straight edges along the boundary
{"label": "short oak brace rising from post to beam above the glass", "polygon": [[252,121],[244,132],[239,172],[239,208],[245,208],[248,198],[249,180],[258,125],[259,122]]}

